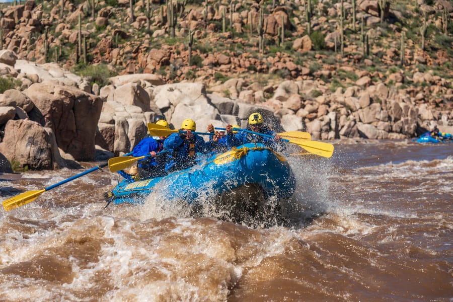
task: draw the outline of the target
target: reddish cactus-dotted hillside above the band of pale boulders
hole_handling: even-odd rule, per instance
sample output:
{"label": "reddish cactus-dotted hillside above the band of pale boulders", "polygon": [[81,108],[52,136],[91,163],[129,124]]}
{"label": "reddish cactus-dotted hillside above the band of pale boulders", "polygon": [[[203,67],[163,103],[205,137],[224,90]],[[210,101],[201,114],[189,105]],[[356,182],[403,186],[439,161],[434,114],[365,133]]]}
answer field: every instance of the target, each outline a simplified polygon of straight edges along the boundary
{"label": "reddish cactus-dotted hillside above the band of pale boulders", "polygon": [[[2,48],[76,71],[107,64],[113,73],[156,73],[169,83],[208,87],[229,78],[249,84],[320,79],[332,91],[365,72],[396,89],[412,86],[415,72],[453,75],[453,7],[446,0],[15,0],[3,6]],[[342,66],[353,69],[340,72]]]}

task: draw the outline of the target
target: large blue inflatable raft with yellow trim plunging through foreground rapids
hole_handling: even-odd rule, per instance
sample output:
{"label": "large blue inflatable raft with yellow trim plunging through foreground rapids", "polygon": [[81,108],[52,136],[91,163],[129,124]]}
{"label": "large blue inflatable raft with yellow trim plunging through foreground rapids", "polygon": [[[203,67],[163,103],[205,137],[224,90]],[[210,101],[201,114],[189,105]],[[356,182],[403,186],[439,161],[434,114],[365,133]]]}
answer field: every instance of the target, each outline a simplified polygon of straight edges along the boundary
{"label": "large blue inflatable raft with yellow trim plunging through foreground rapids", "polygon": [[106,201],[120,204],[143,203],[149,194],[159,194],[171,202],[193,204],[206,198],[221,197],[242,186],[260,190],[266,198],[288,198],[294,192],[295,179],[285,158],[263,144],[247,143],[229,152],[213,155],[186,170],[145,180],[125,177]]}

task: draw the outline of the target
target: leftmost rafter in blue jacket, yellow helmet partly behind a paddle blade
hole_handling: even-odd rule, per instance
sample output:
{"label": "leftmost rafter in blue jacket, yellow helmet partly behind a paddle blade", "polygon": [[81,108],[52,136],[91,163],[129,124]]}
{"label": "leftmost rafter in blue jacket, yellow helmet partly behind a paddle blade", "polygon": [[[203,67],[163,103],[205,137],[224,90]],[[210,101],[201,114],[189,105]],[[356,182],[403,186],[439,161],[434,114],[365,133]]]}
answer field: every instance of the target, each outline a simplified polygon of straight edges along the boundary
{"label": "leftmost rafter in blue jacket, yellow helmet partly behind a paddle blade", "polygon": [[[157,125],[169,128],[168,122],[164,119],[158,120]],[[141,157],[151,155],[137,162],[137,172],[140,179],[163,176],[165,174],[165,156],[157,156],[164,150],[166,136],[145,137],[132,149],[132,156]]]}

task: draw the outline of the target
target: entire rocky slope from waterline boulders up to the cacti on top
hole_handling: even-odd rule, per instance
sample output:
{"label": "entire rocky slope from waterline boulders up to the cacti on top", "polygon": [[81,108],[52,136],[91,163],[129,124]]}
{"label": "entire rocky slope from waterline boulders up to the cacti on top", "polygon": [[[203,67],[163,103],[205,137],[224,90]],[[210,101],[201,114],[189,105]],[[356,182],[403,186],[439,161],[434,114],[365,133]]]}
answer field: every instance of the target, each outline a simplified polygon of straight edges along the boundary
{"label": "entire rocky slope from waterline boulders up to the cacti on top", "polygon": [[156,114],[204,130],[244,127],[258,110],[313,139],[453,132],[448,1],[28,0],[1,11],[0,152],[22,167],[127,153]]}

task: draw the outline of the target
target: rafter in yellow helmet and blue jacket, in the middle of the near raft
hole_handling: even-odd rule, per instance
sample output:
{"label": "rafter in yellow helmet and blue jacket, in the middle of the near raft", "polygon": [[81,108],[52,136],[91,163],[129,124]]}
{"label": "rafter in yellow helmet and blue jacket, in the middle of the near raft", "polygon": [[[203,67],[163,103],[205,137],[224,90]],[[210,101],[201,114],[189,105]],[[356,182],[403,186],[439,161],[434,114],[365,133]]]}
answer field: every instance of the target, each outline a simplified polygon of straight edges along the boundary
{"label": "rafter in yellow helmet and blue jacket, in the middle of the near raft", "polygon": [[205,142],[204,139],[193,133],[197,128],[195,121],[185,119],[179,133],[170,134],[164,141],[164,147],[168,151],[166,172],[183,170],[195,165],[197,153],[206,154],[211,152],[217,139]]}

